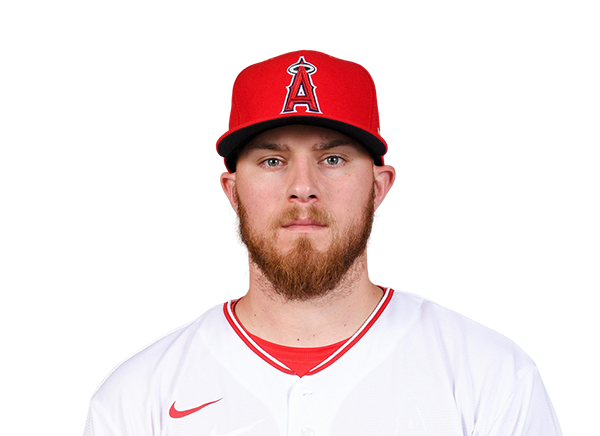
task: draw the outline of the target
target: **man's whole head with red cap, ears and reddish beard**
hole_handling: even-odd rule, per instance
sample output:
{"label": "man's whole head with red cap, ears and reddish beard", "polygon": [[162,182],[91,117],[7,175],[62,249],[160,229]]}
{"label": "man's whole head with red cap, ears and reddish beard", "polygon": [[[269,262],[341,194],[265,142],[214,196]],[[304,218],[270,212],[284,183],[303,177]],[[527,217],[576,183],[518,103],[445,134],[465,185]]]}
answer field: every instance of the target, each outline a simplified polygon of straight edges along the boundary
{"label": "man's whole head with red cap, ears and reddish beard", "polygon": [[296,52],[247,69],[233,94],[217,148],[253,277],[301,301],[364,277],[373,213],[393,179],[369,74]]}

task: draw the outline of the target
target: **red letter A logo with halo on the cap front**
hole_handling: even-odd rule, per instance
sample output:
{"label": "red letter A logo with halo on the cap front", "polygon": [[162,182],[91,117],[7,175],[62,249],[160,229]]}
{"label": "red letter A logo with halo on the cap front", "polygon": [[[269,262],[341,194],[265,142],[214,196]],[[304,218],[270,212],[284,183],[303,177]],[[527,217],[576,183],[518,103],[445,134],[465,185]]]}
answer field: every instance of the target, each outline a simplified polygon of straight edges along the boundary
{"label": "red letter A logo with halo on the cap front", "polygon": [[288,67],[288,73],[292,75],[292,81],[286,87],[288,93],[283,104],[282,114],[296,112],[296,106],[305,106],[306,112],[320,114],[319,101],[317,100],[316,86],[310,78],[317,71],[317,67],[304,60],[300,56],[298,62]]}

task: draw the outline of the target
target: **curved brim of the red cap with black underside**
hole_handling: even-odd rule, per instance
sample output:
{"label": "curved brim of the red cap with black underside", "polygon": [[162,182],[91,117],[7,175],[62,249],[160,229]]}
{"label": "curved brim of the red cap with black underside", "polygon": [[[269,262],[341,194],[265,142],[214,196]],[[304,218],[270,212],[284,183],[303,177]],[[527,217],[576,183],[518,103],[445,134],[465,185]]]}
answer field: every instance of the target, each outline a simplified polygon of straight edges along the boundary
{"label": "curved brim of the red cap with black underside", "polygon": [[375,165],[383,165],[382,156],[385,154],[386,145],[377,136],[359,127],[341,121],[332,120],[324,117],[302,115],[281,117],[262,121],[259,123],[253,123],[249,126],[241,127],[224,136],[219,141],[217,147],[221,156],[225,157],[225,163],[227,165],[227,168],[229,168],[231,172],[235,172],[235,165],[238,154],[237,152],[239,151],[239,149],[241,149],[241,147],[243,147],[246,144],[246,142],[248,142],[254,136],[266,130],[286,126],[289,124],[304,124],[310,126],[325,127],[343,133],[344,135],[348,135],[351,138],[356,139],[358,142],[360,142],[370,150]]}

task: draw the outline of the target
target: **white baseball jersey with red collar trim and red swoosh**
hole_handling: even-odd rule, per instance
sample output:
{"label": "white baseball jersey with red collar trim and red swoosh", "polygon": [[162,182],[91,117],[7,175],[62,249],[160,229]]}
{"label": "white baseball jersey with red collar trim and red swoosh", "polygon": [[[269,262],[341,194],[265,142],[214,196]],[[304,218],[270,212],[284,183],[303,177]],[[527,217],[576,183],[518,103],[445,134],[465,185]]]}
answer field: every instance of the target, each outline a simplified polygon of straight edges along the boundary
{"label": "white baseball jersey with red collar trim and red swoosh", "polygon": [[262,350],[232,303],[117,367],[87,436],[554,436],[531,359],[504,337],[387,290],[358,332],[307,375]]}

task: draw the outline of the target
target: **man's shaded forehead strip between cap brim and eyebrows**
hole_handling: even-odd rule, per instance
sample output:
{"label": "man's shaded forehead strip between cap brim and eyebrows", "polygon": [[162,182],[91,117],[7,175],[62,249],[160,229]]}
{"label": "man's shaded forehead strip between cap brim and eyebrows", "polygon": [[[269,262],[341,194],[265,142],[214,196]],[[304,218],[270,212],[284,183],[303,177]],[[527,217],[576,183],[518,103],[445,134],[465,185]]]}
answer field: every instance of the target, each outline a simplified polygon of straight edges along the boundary
{"label": "man's shaded forehead strip between cap brim and eyebrows", "polygon": [[355,139],[335,130],[307,125],[289,125],[267,130],[252,138],[240,151],[239,156],[256,150],[294,151],[310,147],[313,151],[348,146],[359,154],[369,155],[368,150]]}

